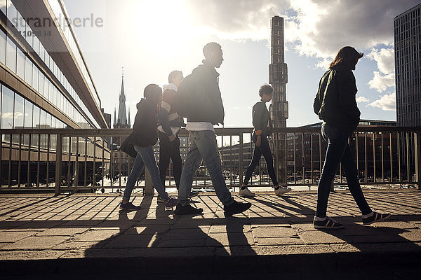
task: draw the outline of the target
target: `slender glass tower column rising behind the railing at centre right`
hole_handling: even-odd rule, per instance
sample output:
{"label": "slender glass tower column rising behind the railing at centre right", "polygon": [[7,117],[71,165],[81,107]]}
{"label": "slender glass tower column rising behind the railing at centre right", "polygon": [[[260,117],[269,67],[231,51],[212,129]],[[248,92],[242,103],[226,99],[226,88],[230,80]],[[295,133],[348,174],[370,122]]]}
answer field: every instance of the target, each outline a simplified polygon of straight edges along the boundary
{"label": "slender glass tower column rising behind the railing at centre right", "polygon": [[[288,102],[286,101],[286,83],[288,67],[285,63],[283,38],[283,18],[275,16],[271,22],[271,64],[269,64],[269,83],[274,88],[272,104],[269,106],[274,127],[286,127]],[[275,155],[275,166],[280,183],[286,183],[285,134],[274,134],[272,151]]]}

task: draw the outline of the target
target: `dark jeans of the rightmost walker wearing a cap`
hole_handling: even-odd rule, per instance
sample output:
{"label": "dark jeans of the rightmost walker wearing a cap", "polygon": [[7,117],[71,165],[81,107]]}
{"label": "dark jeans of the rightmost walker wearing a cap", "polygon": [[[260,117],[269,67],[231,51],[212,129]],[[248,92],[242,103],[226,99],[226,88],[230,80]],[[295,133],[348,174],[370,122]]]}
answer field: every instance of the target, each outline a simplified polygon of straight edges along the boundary
{"label": "dark jeans of the rightmost walker wearing a cap", "polygon": [[330,186],[340,162],[345,171],[349,191],[354,197],[361,213],[363,215],[370,214],[371,209],[361,190],[358,181],[358,170],[356,169],[354,158],[352,158],[351,151],[349,150],[349,135],[346,132],[342,132],[329,125],[323,125],[321,127],[321,134],[323,139],[328,142],[328,149],[326,150],[326,158],[321,171],[319,188],[317,190],[316,216],[319,218],[326,217]]}

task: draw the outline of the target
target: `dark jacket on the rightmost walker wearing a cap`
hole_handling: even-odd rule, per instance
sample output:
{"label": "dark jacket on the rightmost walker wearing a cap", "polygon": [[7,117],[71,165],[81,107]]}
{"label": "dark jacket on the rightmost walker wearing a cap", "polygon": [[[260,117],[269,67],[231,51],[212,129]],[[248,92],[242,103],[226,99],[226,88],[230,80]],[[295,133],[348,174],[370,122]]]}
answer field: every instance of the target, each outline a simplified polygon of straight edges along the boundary
{"label": "dark jacket on the rightmost walker wearing a cap", "polygon": [[344,65],[333,66],[324,73],[314,98],[314,113],[327,125],[352,134],[359,125],[354,73]]}

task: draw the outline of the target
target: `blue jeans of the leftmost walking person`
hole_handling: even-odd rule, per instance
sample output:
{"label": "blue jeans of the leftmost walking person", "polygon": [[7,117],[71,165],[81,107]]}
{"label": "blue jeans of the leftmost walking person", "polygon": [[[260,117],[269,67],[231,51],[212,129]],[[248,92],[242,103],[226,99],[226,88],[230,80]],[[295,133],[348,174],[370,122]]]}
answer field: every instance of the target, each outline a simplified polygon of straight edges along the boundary
{"label": "blue jeans of the leftmost walking person", "polygon": [[133,168],[128,176],[126,188],[124,189],[123,200],[130,199],[135,183],[138,181],[138,178],[145,167],[149,171],[149,174],[151,174],[152,184],[154,184],[155,190],[158,191],[159,197],[163,200],[168,200],[170,197],[168,196],[168,193],[166,193],[161,179],[159,178],[159,169],[155,161],[154,148],[152,148],[152,146],[140,147],[137,145],[135,145],[134,148],[135,151],[138,152],[138,155],[136,155],[135,163],[133,164]]}

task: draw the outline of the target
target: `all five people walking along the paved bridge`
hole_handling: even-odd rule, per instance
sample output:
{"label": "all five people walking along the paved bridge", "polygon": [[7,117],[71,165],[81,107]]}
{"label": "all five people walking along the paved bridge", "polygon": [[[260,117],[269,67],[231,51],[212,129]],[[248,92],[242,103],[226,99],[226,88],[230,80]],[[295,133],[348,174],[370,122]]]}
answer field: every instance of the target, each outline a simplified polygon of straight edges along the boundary
{"label": "all five people walking along the paved bridge", "polygon": [[[158,193],[158,202],[167,208],[175,208],[175,215],[201,214],[203,209],[192,207],[190,198],[198,193],[192,192],[193,176],[202,160],[205,162],[210,179],[225,216],[240,214],[251,207],[250,202],[237,202],[229,192],[224,176],[214,125],[224,124],[224,106],[219,88],[219,73],[216,71],[223,62],[222,48],[218,43],[208,43],[203,48],[202,64],[184,78],[181,71],[173,71],[168,76],[168,85],[163,87],[150,84],[145,87],[144,98],[137,104],[138,113],[133,125],[133,133],[128,144],[135,153],[135,162],[124,190],[120,209],[138,210],[140,207],[130,202],[135,182],[145,167],[148,169],[152,184]],[[358,172],[349,150],[348,138],[359,124],[360,112],[356,106],[357,92],[354,74],[356,63],[363,56],[352,47],[344,47],[330,64],[328,71],[319,83],[314,99],[314,112],[323,120],[321,133],[328,141],[326,159],[318,187],[317,209],[314,228],[338,229],[344,226],[326,216],[330,186],[340,162],[345,170],[349,191],[362,213],[364,225],[389,218],[390,214],[372,211],[364,198],[358,181]],[[274,171],[272,153],[268,138],[272,134],[272,121],[266,103],[272,99],[273,88],[262,85],[259,90],[260,102],[253,106],[253,158],[248,165],[239,195],[253,197],[248,181],[261,155],[267,162],[267,172],[276,195],[283,195],[290,188],[279,185]],[[189,131],[189,153],[182,167],[180,139],[178,132],[185,124]],[[153,146],[159,139],[159,166],[156,165]],[[166,172],[170,159],[173,162],[175,184],[178,198],[171,197],[165,190]]]}

